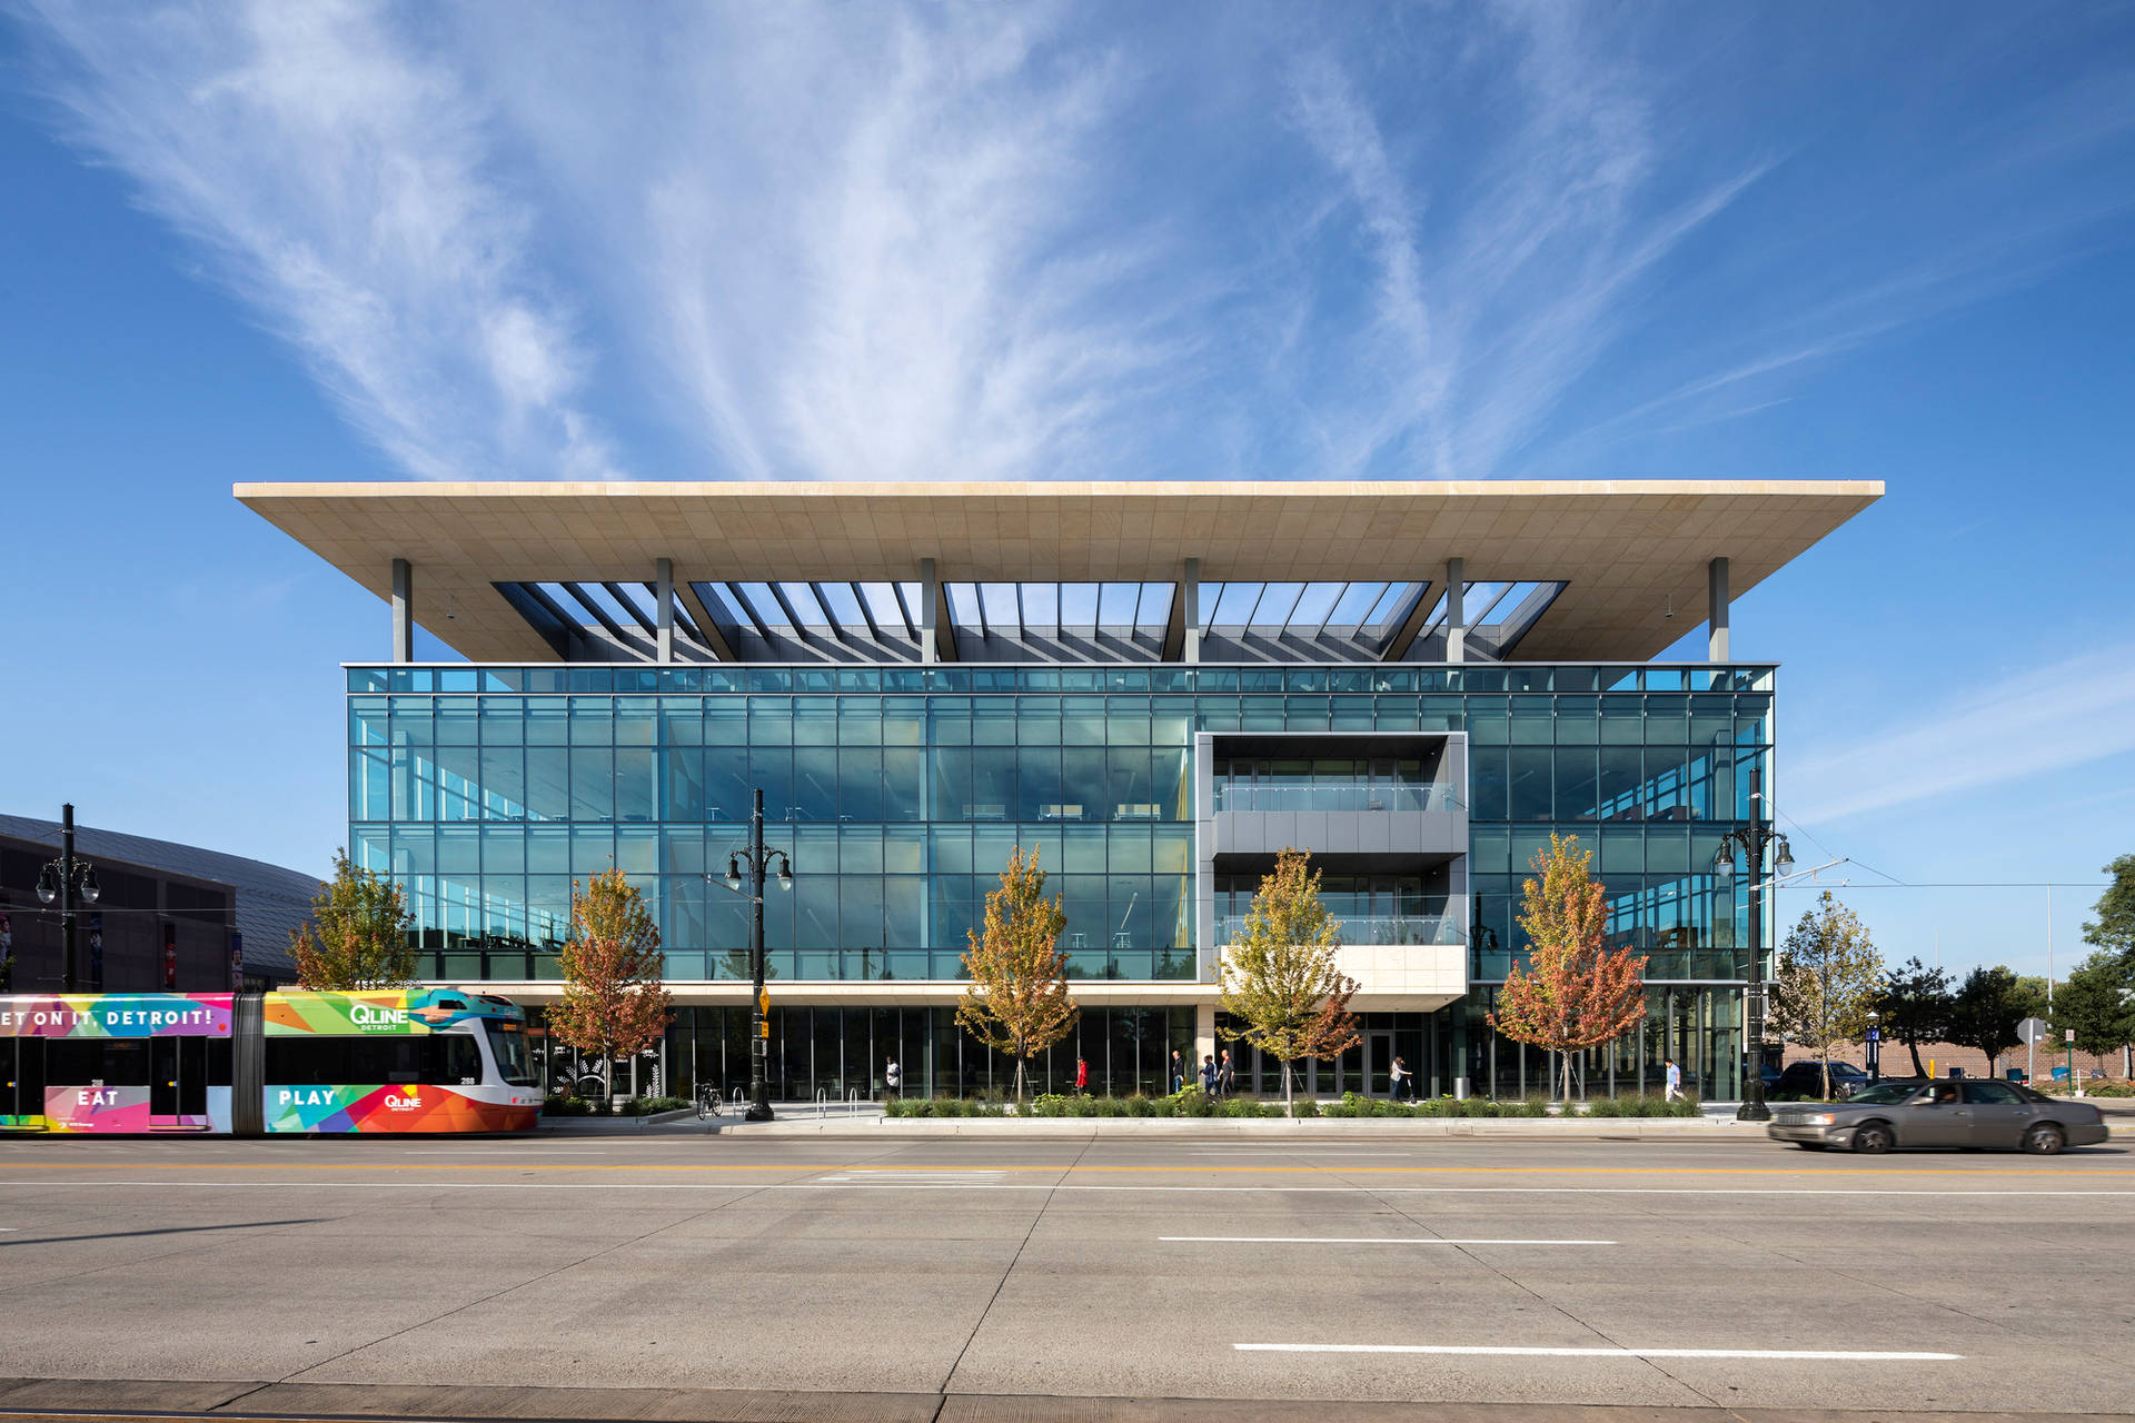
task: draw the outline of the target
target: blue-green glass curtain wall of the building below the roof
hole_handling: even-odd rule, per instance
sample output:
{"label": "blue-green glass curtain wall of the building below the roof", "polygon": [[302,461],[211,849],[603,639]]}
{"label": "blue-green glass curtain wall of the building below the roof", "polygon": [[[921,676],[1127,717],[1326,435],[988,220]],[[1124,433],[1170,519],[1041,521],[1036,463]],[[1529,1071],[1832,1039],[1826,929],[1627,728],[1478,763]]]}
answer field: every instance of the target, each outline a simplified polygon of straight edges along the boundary
{"label": "blue-green glass curtain wall of the building below the roof", "polygon": [[[350,851],[406,890],[421,971],[442,981],[555,979],[572,879],[611,864],[658,913],[668,979],[741,979],[747,902],[705,877],[724,875],[762,787],[766,841],[794,866],[794,892],[766,900],[773,979],[948,988],[1021,845],[1065,898],[1074,977],[1181,984],[1198,975],[1196,949],[1215,947],[1193,943],[1198,734],[1328,736],[1309,764],[1232,768],[1223,796],[1409,809],[1428,794],[1420,768],[1345,762],[1341,734],[1465,732],[1471,988],[1383,1030],[1413,1035],[1405,1056],[1441,1088],[1456,1075],[1477,1092],[1541,1088],[1539,1054],[1497,1039],[1482,1013],[1524,952],[1527,862],[1552,830],[1578,834],[1608,885],[1614,943],[1650,956],[1652,1001],[1646,1030],[1586,1054],[1582,1071],[1650,1082],[1676,1056],[1721,1097],[1738,1086],[1731,986],[1749,924],[1744,877],[1717,879],[1712,858],[1749,815],[1749,768],[1770,783],[1772,683],[1770,666],[357,666]],[[1240,888],[1208,885],[1219,917],[1251,898]],[[1443,907],[1428,870],[1345,877],[1339,894],[1360,920]],[[722,1011],[677,1024],[668,1082],[702,1071],[690,1052],[702,1062],[724,1043]],[[1140,1084],[1142,1045],[1179,1045],[1176,1009],[1164,1011],[1164,1026],[1129,1020],[1132,1033],[1106,1020],[1106,1082]],[[858,1086],[884,1041],[927,1054],[924,1073],[907,1062],[914,1090],[991,1073],[942,1045],[946,1009],[903,1009],[922,1022],[895,1035],[863,1024],[871,1009],[848,1013],[781,1035],[790,1060],[809,1043],[798,1094]],[[1371,1071],[1383,1069],[1360,1058],[1356,1077]]]}

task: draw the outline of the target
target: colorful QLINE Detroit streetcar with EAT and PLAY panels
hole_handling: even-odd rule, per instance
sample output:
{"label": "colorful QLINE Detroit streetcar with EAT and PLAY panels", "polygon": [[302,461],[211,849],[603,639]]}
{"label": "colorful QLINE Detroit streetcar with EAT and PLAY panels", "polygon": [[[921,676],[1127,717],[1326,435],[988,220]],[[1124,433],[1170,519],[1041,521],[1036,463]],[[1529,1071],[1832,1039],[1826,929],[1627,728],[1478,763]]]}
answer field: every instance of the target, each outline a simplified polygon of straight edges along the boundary
{"label": "colorful QLINE Detroit streetcar with EAT and PLAY panels", "polygon": [[0,1131],[532,1131],[525,1011],[461,988],[0,996]]}

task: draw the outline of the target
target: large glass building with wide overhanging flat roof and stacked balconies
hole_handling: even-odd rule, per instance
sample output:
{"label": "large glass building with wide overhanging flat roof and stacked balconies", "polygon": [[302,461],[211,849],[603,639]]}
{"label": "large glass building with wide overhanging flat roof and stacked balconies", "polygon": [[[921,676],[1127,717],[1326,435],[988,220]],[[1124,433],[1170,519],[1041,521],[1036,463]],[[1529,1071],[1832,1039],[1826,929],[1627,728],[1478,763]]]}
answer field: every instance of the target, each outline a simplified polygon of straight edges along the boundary
{"label": "large glass building with wide overhanging flat roof and stacked balconies", "polygon": [[[1503,550],[1467,535],[1473,553],[1437,563],[1337,538],[1356,514],[1337,497],[1309,510],[1328,521],[1322,550],[1255,550],[1281,580],[1245,580],[1245,553],[1215,535],[1127,542],[1149,486],[1095,486],[1065,512],[1042,486],[984,486],[991,555],[942,533],[956,495],[927,489],[897,495],[918,533],[852,497],[841,512],[867,518],[824,535],[843,491],[809,489],[773,497],[775,516],[752,510],[756,527],[715,553],[673,529],[673,491],[728,514],[730,489],[786,486],[630,486],[638,499],[596,510],[621,512],[621,533],[598,540],[542,531],[572,523],[544,486],[444,489],[463,508],[436,521],[433,542],[455,518],[470,544],[517,521],[547,548],[425,557],[406,508],[391,512],[416,489],[239,491],[352,574],[365,553],[305,521],[331,508],[342,531],[378,525],[371,553],[386,557],[365,578],[391,578],[399,657],[346,668],[348,838],[359,864],[406,888],[433,981],[553,996],[572,881],[619,866],[658,915],[679,1005],[662,1086],[743,1082],[749,905],[722,881],[762,789],[766,841],[794,868],[792,892],[766,900],[779,1097],[865,1097],[888,1056],[916,1092],[984,1090],[1008,1071],[954,1026],[952,1005],[965,934],[1012,847],[1038,851],[1063,898],[1082,1005],[1042,1080],[1072,1080],[1080,1058],[1100,1088],[1161,1092],[1172,1052],[1217,1050],[1221,947],[1275,853],[1298,847],[1343,922],[1364,1026],[1309,1086],[1383,1092],[1401,1054],[1420,1088],[1514,1097],[1544,1090],[1548,1062],[1497,1035],[1488,1011],[1524,952],[1522,873],[1559,832],[1595,851],[1612,943],[1648,956],[1646,1022],[1582,1054],[1588,1090],[1652,1086],[1665,1058],[1708,1097],[1740,1090],[1746,877],[1721,879],[1712,862],[1753,813],[1749,772],[1774,783],[1776,670],[1727,657],[1729,572],[1770,572],[1872,486],[1787,486],[1791,499],[1689,486],[1736,525],[1787,525],[1714,531],[1691,553],[1652,533],[1667,521],[1627,486],[1507,486],[1541,491],[1509,508],[1552,514],[1529,518],[1548,527]],[[986,506],[952,489],[978,523]],[[1215,508],[1208,491],[1164,489],[1189,518]],[[1326,499],[1208,489],[1251,489],[1281,512]],[[1458,491],[1488,486],[1373,489],[1375,516],[1407,512],[1407,497],[1448,521],[1480,510]],[[1565,576],[1516,576],[1550,567],[1565,499],[1633,542],[1614,561],[1559,544]],[[822,546],[794,548],[809,527]],[[636,578],[602,576],[617,538],[675,553],[643,559]],[[1663,591],[1657,612],[1627,610],[1657,582],[1657,550],[1687,587]],[[1407,578],[1388,576],[1401,572],[1390,557]],[[690,567],[707,561],[737,576]],[[1213,563],[1230,578],[1206,578]],[[1499,565],[1505,576],[1477,576]],[[1097,576],[1068,576],[1085,570]],[[425,604],[418,578],[436,589]],[[418,606],[442,608],[421,625],[470,661],[414,661]],[[1625,657],[1697,623],[1706,661]],[[1580,646],[1593,655],[1569,655]],[[1275,1090],[1275,1065],[1251,1052],[1240,1077]]]}

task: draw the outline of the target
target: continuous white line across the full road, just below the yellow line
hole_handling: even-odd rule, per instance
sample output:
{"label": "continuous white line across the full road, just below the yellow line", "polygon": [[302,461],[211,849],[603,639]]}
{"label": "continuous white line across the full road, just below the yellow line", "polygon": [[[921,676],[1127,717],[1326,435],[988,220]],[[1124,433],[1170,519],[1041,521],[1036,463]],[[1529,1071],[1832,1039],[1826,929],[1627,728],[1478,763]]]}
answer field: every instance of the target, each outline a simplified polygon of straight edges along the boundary
{"label": "continuous white line across the full road, just below the yellow line", "polygon": [[[1065,1167],[1061,1167],[1065,1169]],[[344,1190],[969,1190],[952,1184],[914,1184],[869,1180],[869,1182],[263,1182],[263,1180],[0,1180],[6,1186],[190,1186],[199,1190],[228,1190],[233,1186],[337,1186]],[[1157,1195],[1815,1195],[1815,1197],[1992,1197],[2020,1201],[2054,1201],[2065,1197],[2120,1197],[2135,1201],[2135,1190],[1783,1190],[1761,1186],[1042,1186],[1023,1182],[999,1182],[984,1190],[1142,1190]]]}

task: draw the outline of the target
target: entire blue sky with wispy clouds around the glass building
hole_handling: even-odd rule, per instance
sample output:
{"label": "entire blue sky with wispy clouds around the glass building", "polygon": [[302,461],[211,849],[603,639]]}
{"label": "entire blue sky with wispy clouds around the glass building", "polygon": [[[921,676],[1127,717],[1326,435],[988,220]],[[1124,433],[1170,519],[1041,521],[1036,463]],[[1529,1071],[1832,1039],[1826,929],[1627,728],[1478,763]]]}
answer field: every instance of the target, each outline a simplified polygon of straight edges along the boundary
{"label": "entire blue sky with wispy clouds around the glass building", "polygon": [[1872,478],[1796,860],[2058,975],[2135,853],[2129,4],[0,0],[0,811],[327,870],[241,480]]}

